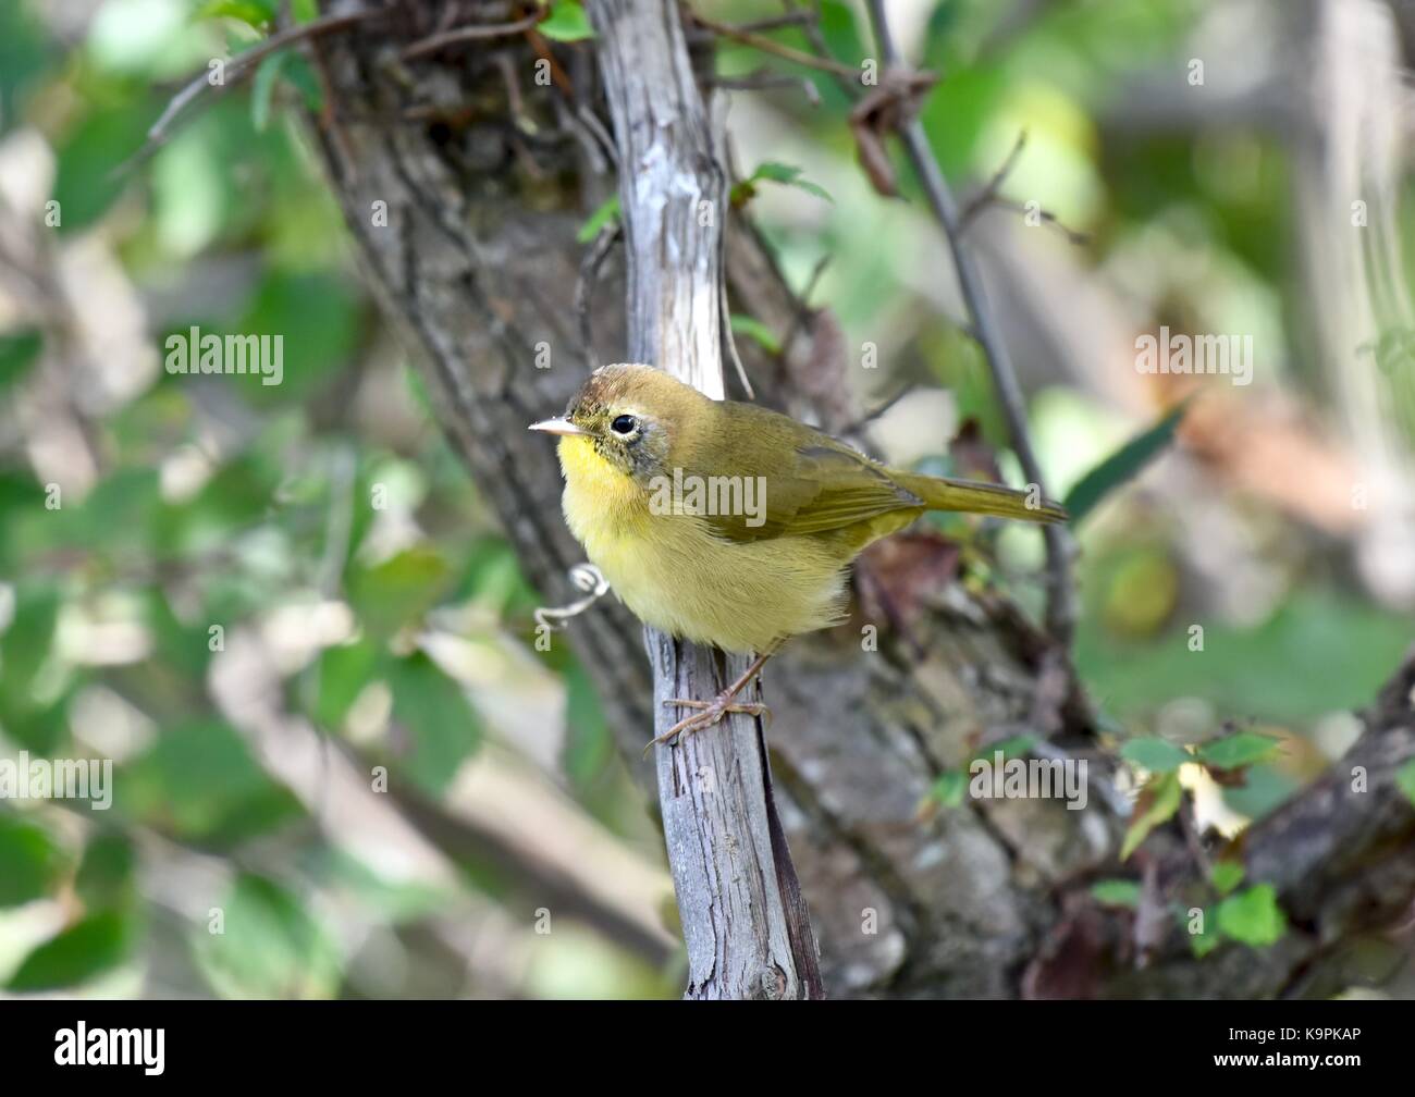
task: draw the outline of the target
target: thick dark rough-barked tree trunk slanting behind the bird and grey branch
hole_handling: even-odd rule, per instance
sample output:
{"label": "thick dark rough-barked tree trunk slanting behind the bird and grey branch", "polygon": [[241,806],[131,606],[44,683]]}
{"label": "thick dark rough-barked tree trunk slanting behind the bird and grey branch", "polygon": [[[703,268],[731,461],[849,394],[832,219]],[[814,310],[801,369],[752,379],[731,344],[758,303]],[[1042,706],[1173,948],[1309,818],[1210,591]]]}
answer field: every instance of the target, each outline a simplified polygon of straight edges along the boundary
{"label": "thick dark rough-barked tree trunk slanting behind the bird and grey branch", "polygon": [[[461,8],[481,17],[478,6]],[[586,294],[597,354],[576,320],[589,251],[576,232],[616,187],[600,59],[594,44],[518,34],[402,61],[402,47],[440,30],[437,11],[405,3],[311,44],[328,85],[314,129],[447,436],[528,576],[556,604],[577,593],[565,576],[582,553],[560,521],[552,450],[525,425],[559,410],[591,360],[654,350],[635,343],[641,316],[624,327],[617,249]],[[539,85],[536,61],[549,57],[555,78]],[[627,198],[635,180],[637,166]],[[375,202],[386,204],[386,226],[374,219]],[[829,316],[795,299],[750,225],[733,218],[726,228],[734,311],[750,311],[785,344],[780,358],[741,348],[758,399],[842,429],[856,409],[842,395],[843,348]],[[678,258],[658,259],[671,268]],[[679,334],[685,345],[703,337]],[[549,348],[548,369],[536,368],[538,344]],[[727,379],[732,388],[732,371]],[[1344,940],[1380,933],[1408,909],[1415,811],[1394,771],[1415,754],[1415,664],[1370,713],[1351,762],[1247,837],[1248,878],[1278,886],[1292,931],[1269,950],[1225,946],[1196,961],[1173,920],[1138,927],[1143,919],[1090,897],[1095,878],[1133,868],[1115,862],[1124,820],[1099,794],[1111,760],[1064,653],[1005,599],[951,583],[947,545],[917,535],[877,549],[860,568],[855,620],[790,644],[764,684],[777,804],[831,994],[1316,994],[1343,978]],[[877,627],[877,650],[862,643],[866,626]],[[594,677],[625,764],[652,790],[655,771],[640,752],[658,713],[641,628],[603,599],[565,638]],[[920,812],[942,770],[1022,732],[1090,759],[1084,811],[1057,800],[969,800]],[[737,732],[732,750],[736,762],[751,757]],[[1364,794],[1346,791],[1356,760],[1368,769]],[[1148,907],[1196,890],[1193,844],[1177,827],[1156,834],[1140,861]],[[753,886],[754,900],[770,892]]]}

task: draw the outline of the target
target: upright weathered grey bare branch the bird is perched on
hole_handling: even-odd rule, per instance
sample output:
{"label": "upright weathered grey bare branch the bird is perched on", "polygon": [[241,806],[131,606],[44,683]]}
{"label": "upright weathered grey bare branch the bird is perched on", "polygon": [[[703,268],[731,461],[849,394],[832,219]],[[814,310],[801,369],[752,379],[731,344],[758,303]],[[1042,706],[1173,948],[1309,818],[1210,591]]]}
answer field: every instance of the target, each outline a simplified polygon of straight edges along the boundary
{"label": "upright weathered grey bare branch the bird is perched on", "polygon": [[[726,181],[672,0],[591,0],[618,147],[628,355],[723,398]],[[743,657],[645,630],[654,729],[713,696]],[[739,665],[740,664],[740,665]],[[760,694],[760,688],[754,687]],[[688,998],[821,998],[815,940],[771,803],[758,720],[658,747],[658,797],[688,943]]]}

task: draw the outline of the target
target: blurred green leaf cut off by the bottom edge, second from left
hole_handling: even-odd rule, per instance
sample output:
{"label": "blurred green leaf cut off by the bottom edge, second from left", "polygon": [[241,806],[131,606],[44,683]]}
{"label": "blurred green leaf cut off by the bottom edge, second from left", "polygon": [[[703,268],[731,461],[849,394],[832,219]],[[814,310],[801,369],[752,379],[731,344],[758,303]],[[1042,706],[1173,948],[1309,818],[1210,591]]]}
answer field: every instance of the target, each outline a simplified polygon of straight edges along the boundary
{"label": "blurred green leaf cut off by the bottom edge, second from left", "polygon": [[[224,998],[333,998],[342,961],[306,904],[263,876],[242,873],[195,931],[192,951]],[[219,930],[219,933],[212,930]]]}

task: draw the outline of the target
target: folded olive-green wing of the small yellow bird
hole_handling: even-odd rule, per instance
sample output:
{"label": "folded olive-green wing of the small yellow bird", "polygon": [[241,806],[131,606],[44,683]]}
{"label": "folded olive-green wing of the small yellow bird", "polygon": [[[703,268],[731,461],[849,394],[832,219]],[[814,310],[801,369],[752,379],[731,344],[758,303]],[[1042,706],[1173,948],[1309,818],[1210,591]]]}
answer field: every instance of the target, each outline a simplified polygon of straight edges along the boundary
{"label": "folded olive-green wing of the small yellow bird", "polygon": [[[829,435],[750,403],[732,403],[727,412],[720,429],[692,447],[693,467],[683,466],[685,483],[698,477],[713,488],[709,498],[733,504],[703,515],[719,536],[746,542],[819,534],[924,505],[882,466]],[[729,478],[713,486],[713,476]]]}

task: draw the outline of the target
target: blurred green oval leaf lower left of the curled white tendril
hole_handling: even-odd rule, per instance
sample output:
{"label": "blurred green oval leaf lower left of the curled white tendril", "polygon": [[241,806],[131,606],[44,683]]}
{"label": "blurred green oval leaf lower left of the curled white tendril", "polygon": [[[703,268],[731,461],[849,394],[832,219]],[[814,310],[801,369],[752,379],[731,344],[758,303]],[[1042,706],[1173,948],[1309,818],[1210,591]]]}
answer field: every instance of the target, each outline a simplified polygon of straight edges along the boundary
{"label": "blurred green oval leaf lower left of the curled white tendril", "polygon": [[461,685],[423,653],[393,664],[393,716],[413,740],[405,766],[424,791],[446,791],[461,764],[481,742],[481,722]]}

